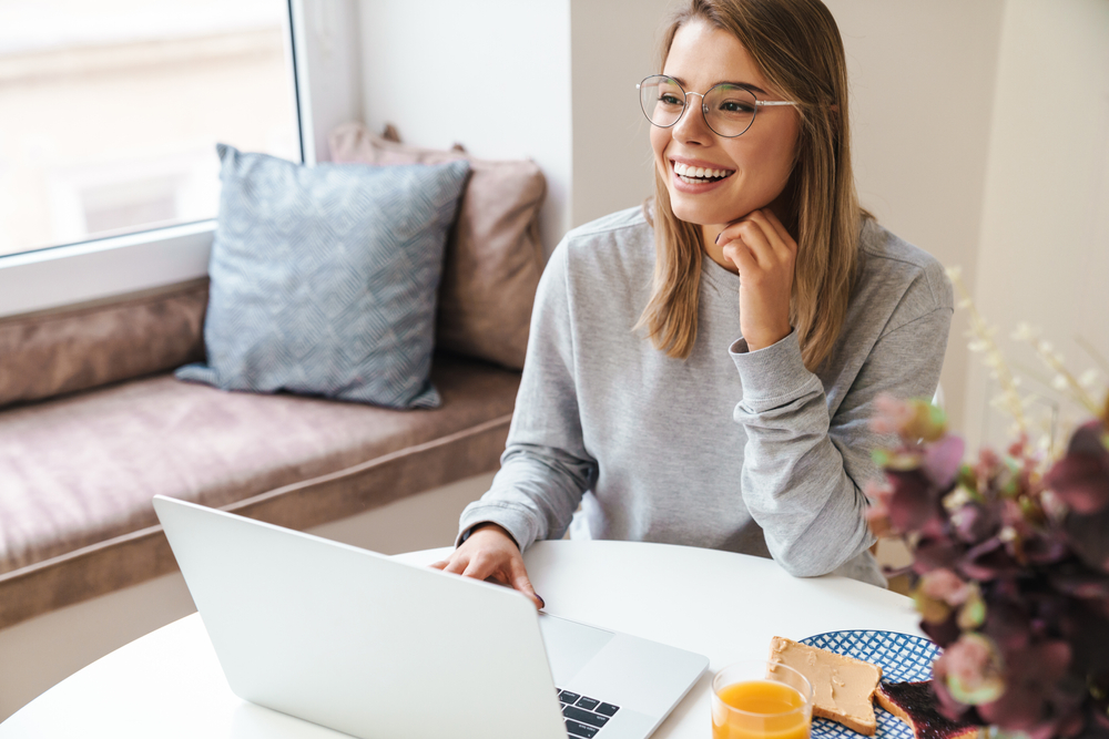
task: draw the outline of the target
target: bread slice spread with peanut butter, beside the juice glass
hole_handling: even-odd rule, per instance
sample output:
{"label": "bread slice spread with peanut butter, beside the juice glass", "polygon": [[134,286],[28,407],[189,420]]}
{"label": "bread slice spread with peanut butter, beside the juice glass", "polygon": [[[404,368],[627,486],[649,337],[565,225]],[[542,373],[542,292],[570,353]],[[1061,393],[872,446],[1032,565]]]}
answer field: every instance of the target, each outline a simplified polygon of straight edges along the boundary
{"label": "bread slice spread with peanut butter, beside the juice glass", "polygon": [[770,640],[770,661],[797,670],[813,686],[813,716],[843,723],[873,737],[878,728],[874,716],[874,691],[882,679],[877,665],[797,644],[783,636]]}

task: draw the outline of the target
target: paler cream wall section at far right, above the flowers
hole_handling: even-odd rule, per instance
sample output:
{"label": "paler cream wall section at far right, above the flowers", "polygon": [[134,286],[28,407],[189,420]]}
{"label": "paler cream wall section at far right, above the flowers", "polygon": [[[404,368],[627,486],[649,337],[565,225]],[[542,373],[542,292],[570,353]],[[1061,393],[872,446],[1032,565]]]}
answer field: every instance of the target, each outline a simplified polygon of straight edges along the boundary
{"label": "paler cream wall section at far right, above the flowers", "polygon": [[[1039,325],[1076,374],[1093,366],[1076,336],[1109,357],[1109,2],[1008,0],[994,107],[970,285],[1025,387],[1057,398],[1009,333]],[[996,440],[1008,417],[984,413],[995,389],[973,370],[966,430]]]}

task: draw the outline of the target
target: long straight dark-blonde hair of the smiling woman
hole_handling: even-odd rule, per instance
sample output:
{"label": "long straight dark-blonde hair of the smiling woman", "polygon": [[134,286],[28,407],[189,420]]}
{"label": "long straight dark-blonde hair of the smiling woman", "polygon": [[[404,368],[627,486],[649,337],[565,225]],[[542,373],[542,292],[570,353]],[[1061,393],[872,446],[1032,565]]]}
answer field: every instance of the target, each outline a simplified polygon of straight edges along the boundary
{"label": "long straight dark-blonde hair of the smiling woman", "polygon": [[[702,20],[743,44],[763,76],[800,116],[796,162],[786,185],[784,225],[797,240],[790,322],[805,367],[832,353],[847,314],[863,218],[851,168],[847,69],[832,13],[820,0],[689,0],[663,38],[662,71],[678,29]],[[655,171],[655,266],[651,299],[637,328],[655,348],[685,359],[693,351],[701,284],[700,227],[679,219],[665,179]]]}

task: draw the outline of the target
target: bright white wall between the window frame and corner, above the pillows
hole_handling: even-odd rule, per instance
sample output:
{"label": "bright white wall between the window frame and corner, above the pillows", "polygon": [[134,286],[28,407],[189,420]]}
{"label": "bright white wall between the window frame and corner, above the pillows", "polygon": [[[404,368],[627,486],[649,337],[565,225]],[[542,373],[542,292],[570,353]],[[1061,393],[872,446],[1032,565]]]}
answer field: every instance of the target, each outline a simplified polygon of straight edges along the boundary
{"label": "bright white wall between the window frame and corner, above the pillows", "polygon": [[547,175],[548,252],[570,226],[569,0],[362,0],[363,116],[404,141]]}

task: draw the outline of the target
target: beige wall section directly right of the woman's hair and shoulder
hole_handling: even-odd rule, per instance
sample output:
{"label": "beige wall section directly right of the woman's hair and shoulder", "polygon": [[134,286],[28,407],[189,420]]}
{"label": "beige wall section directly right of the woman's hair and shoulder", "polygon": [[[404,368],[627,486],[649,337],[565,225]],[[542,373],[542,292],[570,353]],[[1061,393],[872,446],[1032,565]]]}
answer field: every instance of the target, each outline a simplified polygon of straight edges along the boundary
{"label": "beige wall section directly right of the woman's hair and shoulder", "polygon": [[[825,0],[851,75],[859,197],[946,266],[977,273],[1003,0]],[[940,384],[964,423],[969,362],[956,310]]]}

